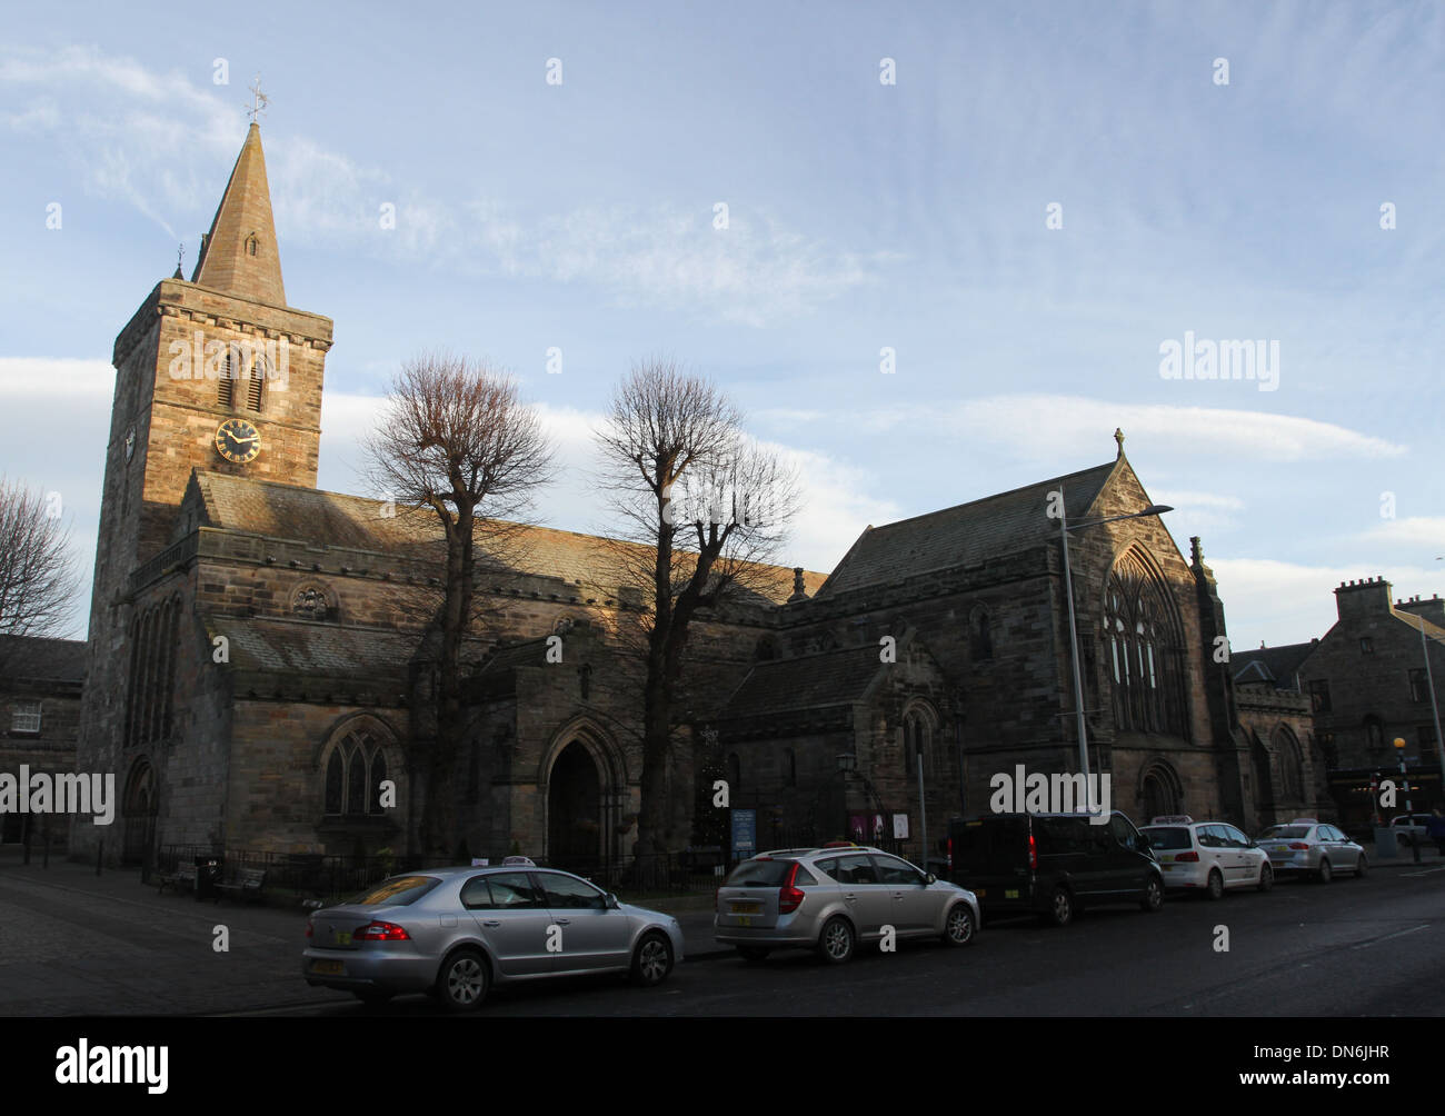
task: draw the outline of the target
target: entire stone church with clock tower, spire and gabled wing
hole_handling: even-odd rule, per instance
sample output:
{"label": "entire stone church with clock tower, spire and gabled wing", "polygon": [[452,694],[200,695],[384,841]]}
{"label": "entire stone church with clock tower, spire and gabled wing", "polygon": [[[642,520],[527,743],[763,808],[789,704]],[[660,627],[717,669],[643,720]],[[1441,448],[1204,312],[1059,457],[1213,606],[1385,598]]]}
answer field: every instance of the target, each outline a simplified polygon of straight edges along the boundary
{"label": "entire stone church with clock tower, spire and gabled wing", "polygon": [[[111,863],[163,846],[418,847],[436,568],[413,519],[316,489],[331,341],[329,318],[286,301],[251,124],[191,278],[160,280],[116,340],[78,769],[116,773],[121,817],[114,836],[74,827],[78,856],[98,840]],[[1123,435],[1111,451],[868,528],[828,574],[769,568],[698,622],[669,847],[717,843],[714,776],[728,808],[757,811],[760,844],[851,833],[920,856],[925,810],[936,834],[987,811],[998,772],[1077,771],[1061,509],[1082,528],[1077,646],[1113,807],[1253,825],[1212,574],[1157,516],[1113,519],[1150,500]],[[520,538],[525,558],[491,555],[478,575],[491,616],[468,648],[448,788],[458,854],[616,862],[640,805],[621,633],[643,597],[608,584],[601,539]]]}

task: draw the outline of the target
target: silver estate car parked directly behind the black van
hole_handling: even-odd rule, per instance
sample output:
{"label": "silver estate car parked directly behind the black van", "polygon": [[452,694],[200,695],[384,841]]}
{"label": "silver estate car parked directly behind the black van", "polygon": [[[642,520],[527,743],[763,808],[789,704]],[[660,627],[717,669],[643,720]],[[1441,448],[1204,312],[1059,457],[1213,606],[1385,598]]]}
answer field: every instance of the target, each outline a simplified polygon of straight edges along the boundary
{"label": "silver estate car parked directly behind the black van", "polygon": [[718,888],[714,935],[749,961],[815,948],[842,964],[860,941],[942,938],[970,945],[978,901],[879,849],[780,849],[744,860]]}

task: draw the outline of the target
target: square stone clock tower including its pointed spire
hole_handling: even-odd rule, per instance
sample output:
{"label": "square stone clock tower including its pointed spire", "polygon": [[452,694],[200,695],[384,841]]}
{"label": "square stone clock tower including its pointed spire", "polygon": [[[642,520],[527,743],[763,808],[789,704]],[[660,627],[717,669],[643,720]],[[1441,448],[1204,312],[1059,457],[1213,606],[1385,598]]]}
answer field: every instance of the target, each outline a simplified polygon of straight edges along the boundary
{"label": "square stone clock tower including its pointed spire", "polygon": [[156,788],[133,785],[153,772],[130,753],[171,734],[184,611],[134,590],[188,533],[178,512],[192,470],[315,486],[329,347],[329,318],[286,305],[253,123],[191,280],[176,267],[116,338],[79,769],[116,772],[133,802],[155,807]]}

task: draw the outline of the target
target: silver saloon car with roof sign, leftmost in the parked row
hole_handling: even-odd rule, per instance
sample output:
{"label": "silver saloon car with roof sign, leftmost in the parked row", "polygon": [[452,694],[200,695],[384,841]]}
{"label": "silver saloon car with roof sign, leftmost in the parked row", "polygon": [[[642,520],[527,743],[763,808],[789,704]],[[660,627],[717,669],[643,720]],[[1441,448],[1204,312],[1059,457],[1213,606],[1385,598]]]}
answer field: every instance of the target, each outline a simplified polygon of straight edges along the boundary
{"label": "silver saloon car with roof sign, leftmost in the parked row", "polygon": [[302,974],[367,1003],[428,992],[452,1010],[491,984],[579,973],[660,983],[682,960],[678,919],[535,866],[392,876],[306,921]]}

